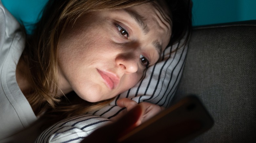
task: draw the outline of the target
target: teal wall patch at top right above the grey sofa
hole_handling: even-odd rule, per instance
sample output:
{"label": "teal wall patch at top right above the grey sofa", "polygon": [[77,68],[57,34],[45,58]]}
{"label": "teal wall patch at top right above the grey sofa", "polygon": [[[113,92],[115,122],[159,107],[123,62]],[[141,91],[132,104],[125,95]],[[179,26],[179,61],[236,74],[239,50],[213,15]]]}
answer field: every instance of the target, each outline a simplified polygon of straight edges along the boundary
{"label": "teal wall patch at top right above the grey sofa", "polygon": [[193,25],[256,20],[256,0],[192,0]]}

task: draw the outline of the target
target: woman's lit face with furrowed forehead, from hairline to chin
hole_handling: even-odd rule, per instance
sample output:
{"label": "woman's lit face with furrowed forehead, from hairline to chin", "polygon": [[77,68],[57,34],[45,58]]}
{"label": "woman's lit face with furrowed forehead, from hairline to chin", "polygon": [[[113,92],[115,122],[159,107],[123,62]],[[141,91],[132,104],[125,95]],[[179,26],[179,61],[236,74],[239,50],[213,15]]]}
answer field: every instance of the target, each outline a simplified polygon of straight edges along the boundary
{"label": "woman's lit face with furrowed forehead, from hairline to chin", "polygon": [[89,102],[115,97],[158,61],[170,36],[170,18],[152,3],[86,14],[60,39],[59,87]]}

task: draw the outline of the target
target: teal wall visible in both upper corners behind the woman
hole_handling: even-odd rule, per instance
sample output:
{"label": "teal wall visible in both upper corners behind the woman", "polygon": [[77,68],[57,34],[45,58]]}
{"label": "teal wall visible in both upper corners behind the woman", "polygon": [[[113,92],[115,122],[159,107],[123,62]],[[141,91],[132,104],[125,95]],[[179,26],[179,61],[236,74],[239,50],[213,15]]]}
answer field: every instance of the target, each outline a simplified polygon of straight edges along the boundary
{"label": "teal wall visible in both upper corners behind the woman", "polygon": [[[256,20],[256,0],[192,0],[193,25]],[[38,19],[47,0],[2,0],[27,29]]]}

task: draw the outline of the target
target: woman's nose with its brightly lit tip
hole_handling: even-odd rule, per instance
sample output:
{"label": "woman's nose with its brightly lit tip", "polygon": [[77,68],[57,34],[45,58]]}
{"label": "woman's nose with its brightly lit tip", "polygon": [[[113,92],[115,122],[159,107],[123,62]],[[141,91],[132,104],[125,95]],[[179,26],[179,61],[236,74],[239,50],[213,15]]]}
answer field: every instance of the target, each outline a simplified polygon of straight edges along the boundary
{"label": "woman's nose with its brightly lit tip", "polygon": [[137,72],[139,68],[139,54],[134,52],[119,54],[116,57],[116,64],[118,68],[121,68],[127,73]]}

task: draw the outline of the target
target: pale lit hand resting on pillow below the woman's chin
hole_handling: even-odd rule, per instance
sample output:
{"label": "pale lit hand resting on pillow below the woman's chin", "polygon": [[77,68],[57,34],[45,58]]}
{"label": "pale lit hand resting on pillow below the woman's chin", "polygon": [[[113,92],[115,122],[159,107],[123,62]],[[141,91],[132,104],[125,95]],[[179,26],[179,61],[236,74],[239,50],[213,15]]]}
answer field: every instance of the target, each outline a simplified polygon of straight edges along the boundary
{"label": "pale lit hand resting on pillow below the woman's chin", "polygon": [[[141,102],[139,104],[145,109],[145,112],[143,113],[143,115],[141,116],[139,121],[137,122],[137,125],[152,118],[153,116],[155,116],[156,114],[158,114],[160,111],[162,111],[164,109],[164,107],[160,107],[159,105],[152,104],[152,103]],[[126,109],[127,109],[126,112],[129,112],[131,109],[136,107],[138,105],[138,103],[131,99],[123,98],[123,99],[120,99],[117,101],[117,105],[119,107],[126,107]]]}

